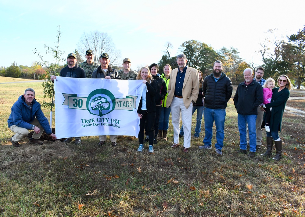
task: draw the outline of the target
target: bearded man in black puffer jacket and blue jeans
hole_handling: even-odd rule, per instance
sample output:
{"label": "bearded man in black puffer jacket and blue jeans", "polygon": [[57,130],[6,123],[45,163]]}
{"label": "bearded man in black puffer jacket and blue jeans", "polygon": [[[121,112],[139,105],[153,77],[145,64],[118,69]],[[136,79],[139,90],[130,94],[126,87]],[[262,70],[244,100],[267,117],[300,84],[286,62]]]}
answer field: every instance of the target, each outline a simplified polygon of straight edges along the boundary
{"label": "bearded man in black puffer jacket and blue jeans", "polygon": [[227,102],[230,100],[233,87],[229,77],[222,72],[222,62],[217,60],[213,64],[213,73],[203,80],[204,95],[204,128],[203,145],[199,149],[212,149],[213,122],[216,126],[215,151],[222,155],[224,146],[224,121],[226,117]]}

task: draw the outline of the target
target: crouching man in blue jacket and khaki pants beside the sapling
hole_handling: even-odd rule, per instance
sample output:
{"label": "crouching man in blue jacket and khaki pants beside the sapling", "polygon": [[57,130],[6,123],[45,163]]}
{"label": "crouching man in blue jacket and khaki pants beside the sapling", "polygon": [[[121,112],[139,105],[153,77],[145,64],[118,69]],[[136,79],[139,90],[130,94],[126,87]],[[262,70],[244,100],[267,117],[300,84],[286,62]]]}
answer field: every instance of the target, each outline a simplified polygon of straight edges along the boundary
{"label": "crouching man in blue jacket and khaki pants beside the sapling", "polygon": [[28,130],[34,130],[30,143],[42,145],[39,141],[41,134],[45,132],[52,137],[53,140],[57,139],[50,128],[48,119],[41,111],[40,104],[35,99],[35,91],[32,88],[27,88],[24,95],[21,95],[17,102],[11,108],[12,112],[7,120],[9,129],[16,133],[11,138],[13,146],[20,147],[19,141],[29,134]]}

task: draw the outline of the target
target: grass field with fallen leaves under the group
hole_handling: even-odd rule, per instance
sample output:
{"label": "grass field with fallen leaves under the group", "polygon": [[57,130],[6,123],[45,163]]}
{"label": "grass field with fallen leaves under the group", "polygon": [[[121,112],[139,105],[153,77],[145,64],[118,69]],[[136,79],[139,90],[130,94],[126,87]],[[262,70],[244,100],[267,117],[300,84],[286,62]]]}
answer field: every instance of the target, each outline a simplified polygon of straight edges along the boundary
{"label": "grass field with fallen leaves under the group", "polygon": [[[0,216],[305,215],[302,116],[284,113],[280,133],[284,154],[279,162],[260,157],[265,146],[252,159],[236,153],[239,132],[232,99],[222,156],[214,149],[198,149],[204,123],[201,138],[192,139],[186,154],[170,147],[171,122],[168,141],[155,145],[154,154],[147,152],[147,143],[138,153],[137,139],[118,139],[118,146],[112,147],[108,138],[98,147],[97,136],[82,137],[80,146],[60,141],[33,146],[25,138],[20,148],[14,148],[6,121],[11,106],[28,87],[34,88],[38,101],[43,99],[39,83],[0,84]],[[303,102],[297,106],[304,108]],[[48,110],[44,112],[49,117]]]}

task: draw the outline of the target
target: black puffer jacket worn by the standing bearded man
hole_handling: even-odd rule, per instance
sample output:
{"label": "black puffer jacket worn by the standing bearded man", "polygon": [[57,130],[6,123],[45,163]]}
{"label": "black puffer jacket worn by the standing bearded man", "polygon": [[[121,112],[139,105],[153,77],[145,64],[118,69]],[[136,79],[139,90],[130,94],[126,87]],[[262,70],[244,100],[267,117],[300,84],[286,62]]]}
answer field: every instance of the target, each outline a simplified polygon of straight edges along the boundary
{"label": "black puffer jacket worn by the standing bearded man", "polygon": [[221,73],[217,82],[215,82],[213,73],[206,76],[203,80],[202,89],[204,95],[204,106],[206,108],[227,108],[227,102],[231,98],[233,87],[231,79],[227,77],[225,73]]}

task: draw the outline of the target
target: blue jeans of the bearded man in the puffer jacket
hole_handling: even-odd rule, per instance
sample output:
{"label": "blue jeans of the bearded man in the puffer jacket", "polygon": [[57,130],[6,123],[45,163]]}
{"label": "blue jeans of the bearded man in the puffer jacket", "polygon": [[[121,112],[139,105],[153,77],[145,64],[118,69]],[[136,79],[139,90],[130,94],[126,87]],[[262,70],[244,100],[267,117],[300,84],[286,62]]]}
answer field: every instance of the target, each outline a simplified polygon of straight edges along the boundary
{"label": "blue jeans of the bearded man in the puffer jacket", "polygon": [[225,109],[213,109],[204,107],[204,128],[205,136],[203,139],[204,145],[212,145],[213,123],[216,126],[216,143],[215,148],[221,150],[224,146],[224,121],[226,119]]}

